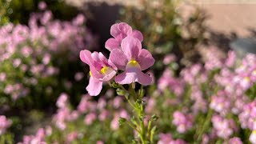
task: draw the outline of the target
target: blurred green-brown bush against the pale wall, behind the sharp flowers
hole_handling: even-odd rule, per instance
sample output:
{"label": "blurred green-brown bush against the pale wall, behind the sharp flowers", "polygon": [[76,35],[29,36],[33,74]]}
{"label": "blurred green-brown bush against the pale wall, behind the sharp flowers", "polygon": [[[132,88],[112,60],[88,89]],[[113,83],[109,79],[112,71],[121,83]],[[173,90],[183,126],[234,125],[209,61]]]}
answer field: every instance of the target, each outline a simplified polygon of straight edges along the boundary
{"label": "blurred green-brown bush against the pale wall, behind the sharp flowers", "polygon": [[[142,31],[144,46],[158,62],[168,53],[178,56],[178,61],[190,65],[198,60],[197,45],[204,40],[206,14],[192,6],[188,18],[180,12],[181,1],[140,0],[138,6],[127,6],[121,10],[121,20],[134,29]],[[186,12],[186,11],[185,11]],[[163,65],[155,65],[163,70]]]}

